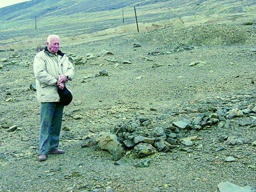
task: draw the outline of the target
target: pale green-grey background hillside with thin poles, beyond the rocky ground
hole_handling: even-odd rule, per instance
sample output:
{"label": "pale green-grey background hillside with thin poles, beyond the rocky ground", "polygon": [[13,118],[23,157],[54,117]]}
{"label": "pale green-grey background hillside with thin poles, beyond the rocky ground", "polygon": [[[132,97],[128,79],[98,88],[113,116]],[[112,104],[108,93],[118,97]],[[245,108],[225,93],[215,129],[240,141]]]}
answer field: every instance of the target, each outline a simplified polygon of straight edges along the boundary
{"label": "pale green-grey background hillside with thin poles, beyond the rocky ground", "polygon": [[[44,37],[49,33],[57,32],[62,38],[66,38],[65,43],[73,41],[72,37],[83,38],[82,41],[86,41],[87,36],[92,40],[92,36],[134,33],[137,32],[134,6],[136,6],[140,32],[170,25],[228,24],[230,22],[243,24],[255,22],[256,14],[254,0],[217,2],[141,0],[135,1],[136,3],[133,0],[127,0],[121,2],[117,0],[32,0],[2,8],[0,9],[0,48],[5,48],[7,44],[11,44],[13,48],[36,47],[44,43]],[[37,29],[35,29],[35,16]]]}

